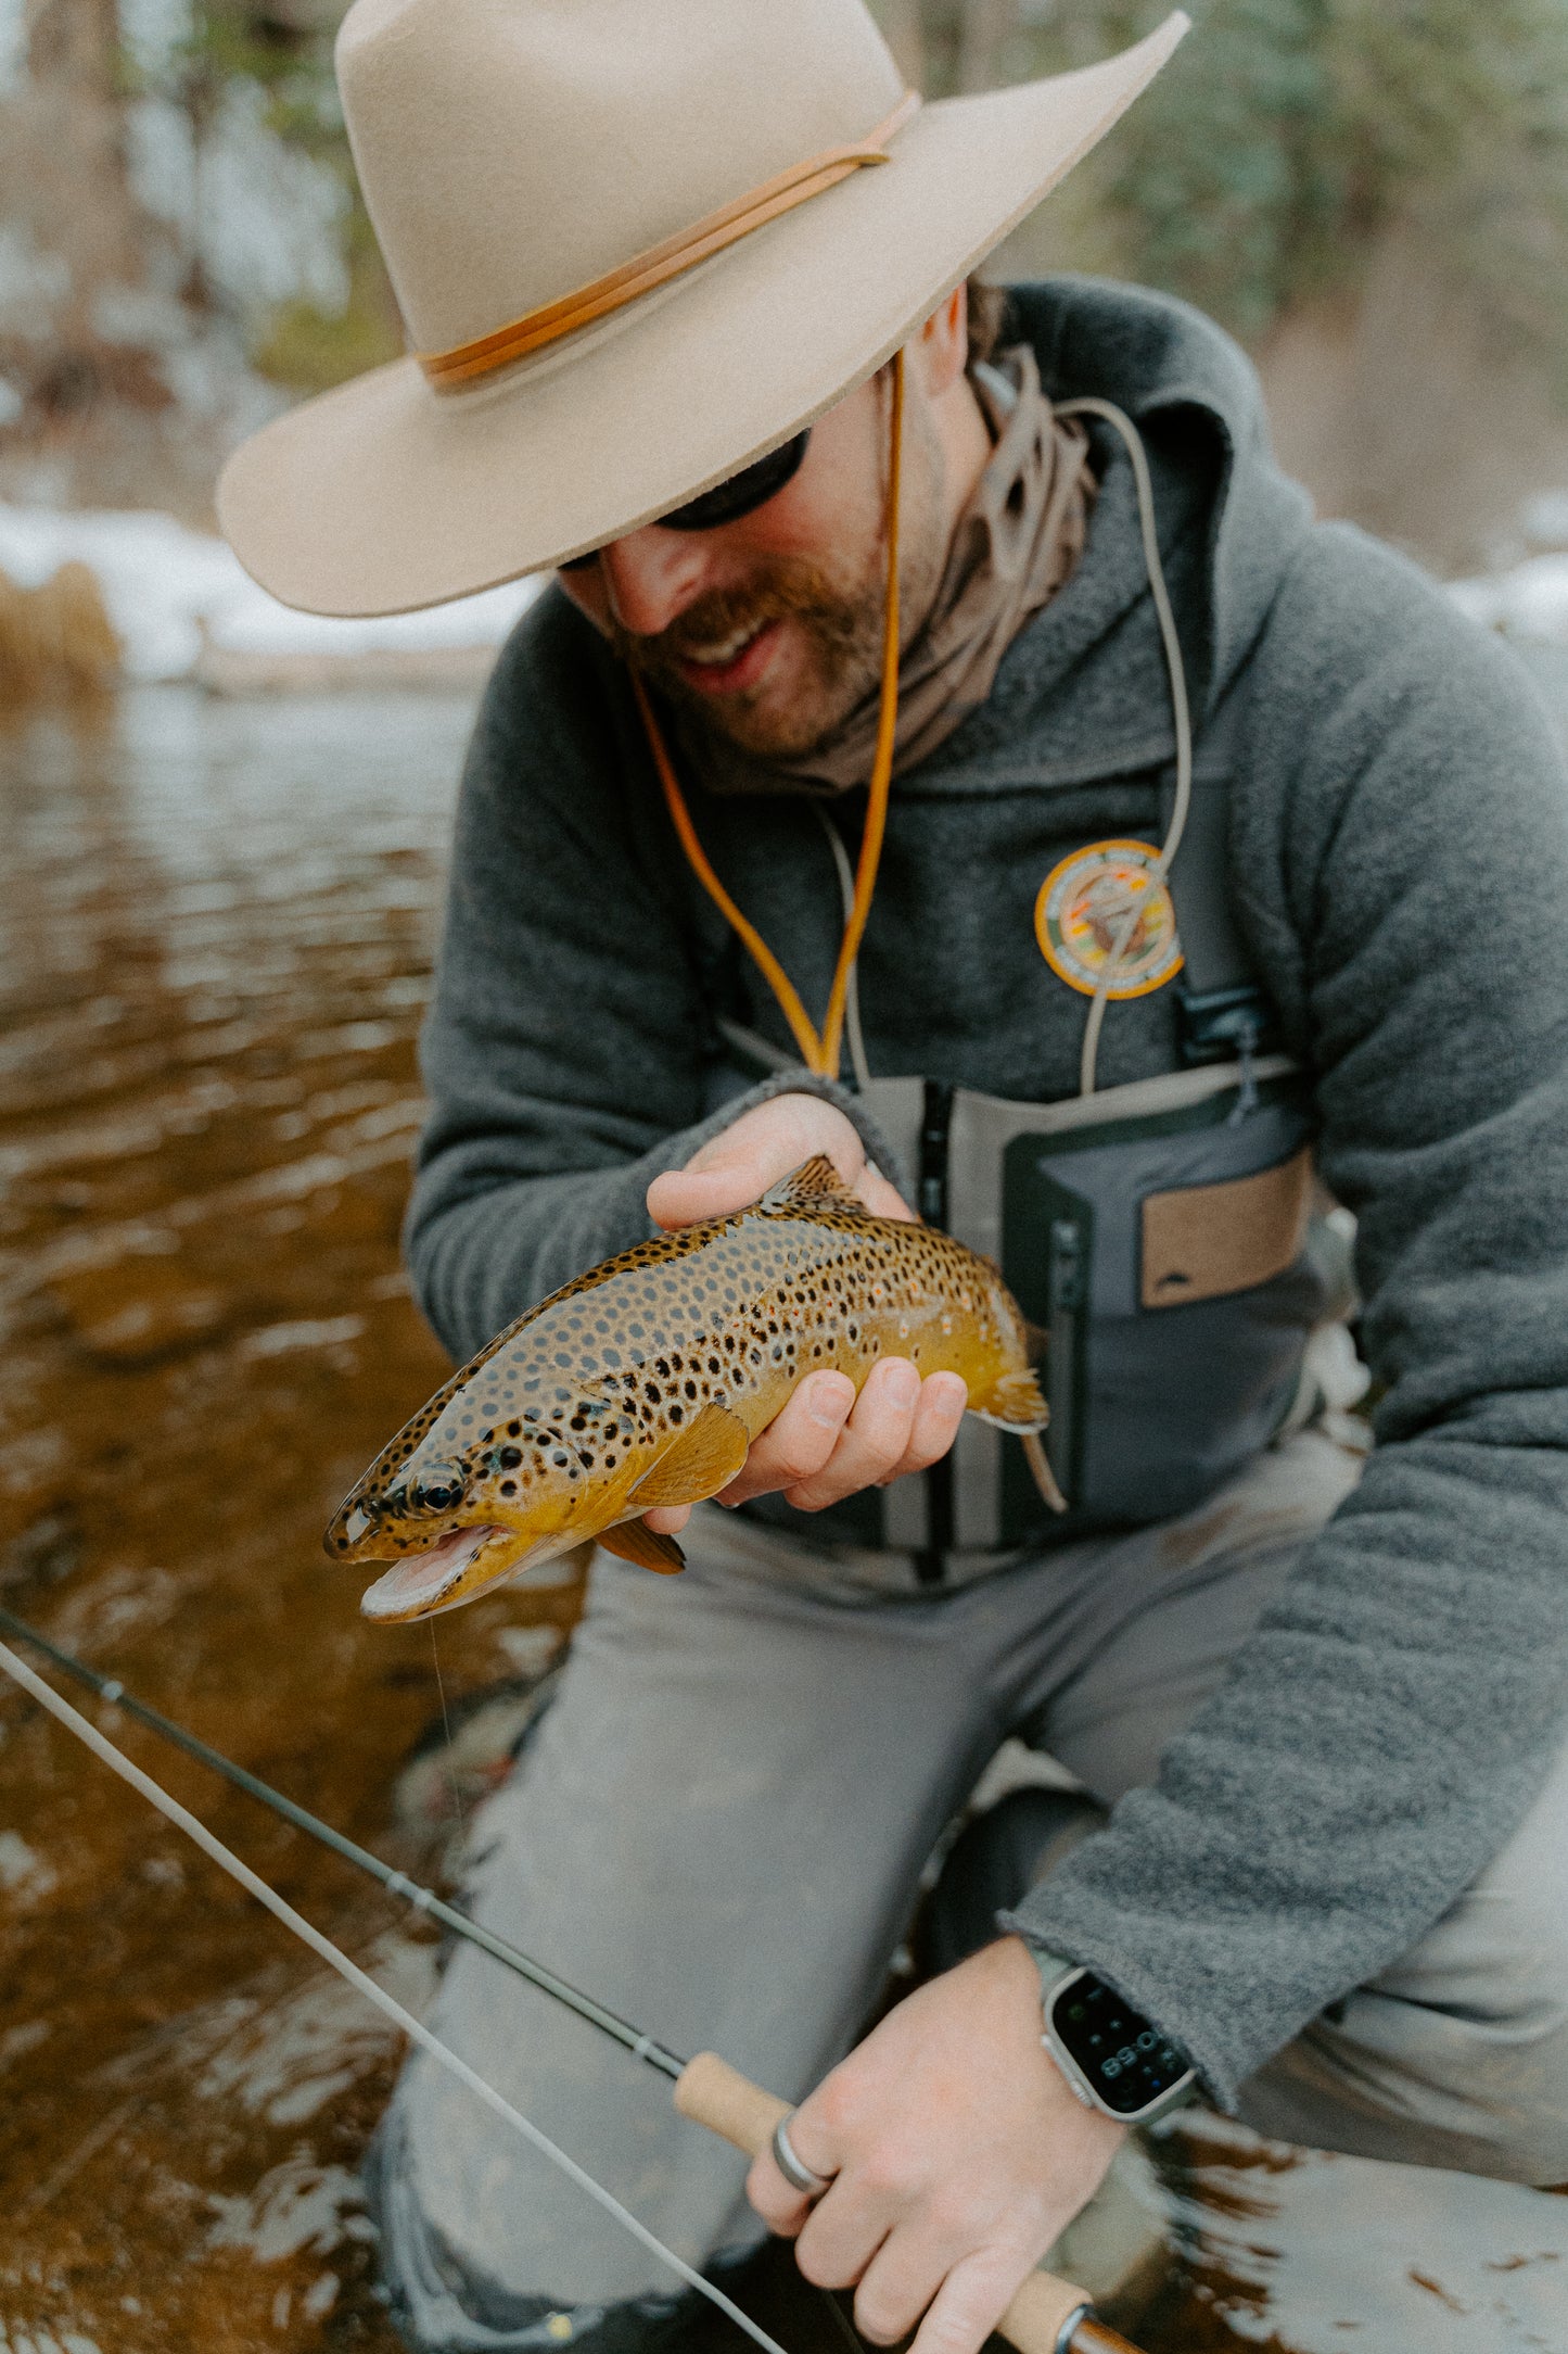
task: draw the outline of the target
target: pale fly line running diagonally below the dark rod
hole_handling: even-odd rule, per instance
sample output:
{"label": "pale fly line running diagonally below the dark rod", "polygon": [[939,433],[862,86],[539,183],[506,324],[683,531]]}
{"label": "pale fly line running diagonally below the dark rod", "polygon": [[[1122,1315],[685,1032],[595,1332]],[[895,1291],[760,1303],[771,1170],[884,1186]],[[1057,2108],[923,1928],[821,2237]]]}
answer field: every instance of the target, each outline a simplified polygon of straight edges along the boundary
{"label": "pale fly line running diagonally below the dark rod", "polygon": [[665,2248],[661,2239],[654,2239],[649,2227],[637,2222],[630,2208],[623,2208],[602,2182],[595,2182],[590,2173],[583,2173],[576,2159],[569,2159],[564,2149],[557,2149],[555,2142],[522,2114],[522,2109],[512,2109],[510,2100],[503,2100],[503,2095],[496,2093],[484,2076],[475,2074],[465,2060],[458,2060],[449,2043],[433,2036],[423,2020],[416,2020],[411,2010],[404,2010],[402,2003],[393,2001],[393,1996],[378,1987],[367,1970],[350,1961],[348,1954],[339,1951],[331,1937],[322,1937],[320,1928],[313,1928],[303,1914],[296,1914],[275,1888],[268,1888],[268,1883],[259,1878],[249,1864],[242,1864],[221,1838],[214,1838],[205,1822],[197,1822],[197,1817],[190,1815],[179,1798],[172,1798],[162,1782],[153,1782],[141,1766],[132,1766],[122,1749],[115,1749],[115,1744],[106,1740],[96,1725],[73,1709],[68,1700],[61,1700],[59,1693],[47,1685],[42,1676],[35,1676],[33,1669],[26,1667],[26,1662],[19,1660],[5,1643],[0,1643],[0,1669],[5,1669],[5,1674],[19,1683],[24,1693],[31,1693],[40,1709],[47,1709],[49,1716],[59,1718],[68,1733],[75,1733],[75,1737],[85,1742],[94,1756],[103,1758],[110,1773],[118,1773],[120,1780],[141,1791],[141,1796],[148,1798],[160,1815],[167,1815],[169,1822],[179,1824],[179,1829],[186,1831],[186,1836],[193,1838],[197,1848],[214,1860],[214,1864],[221,1864],[230,1878],[240,1881],[240,1888],[244,1888],[247,1895],[256,1897],[259,1904],[266,1904],[273,1919],[282,1921],[284,1928],[292,1928],[294,1935],[308,1944],[313,1954],[320,1954],[320,1959],[336,1970],[339,1977],[346,1977],[367,2003],[374,2003],[376,2010],[393,2020],[395,2027],[402,2027],[404,2036],[418,2043],[421,2050],[428,2050],[440,2067],[458,2079],[458,2083],[465,2083],[470,2093],[477,2093],[487,2109],[494,2109],[498,2119],[524,2137],[524,2142],[538,2149],[541,2156],[550,2159],[552,2166],[559,2166],[569,2182],[576,2182],[576,2187],[588,2192],[590,2199],[597,2199],[604,2213],[614,2215],[616,2222],[632,2234],[632,2239],[642,2241],[649,2255],[656,2255],[663,2265],[668,2265],[670,2272],[686,2281],[689,2288],[698,2288],[710,2305],[717,2305],[722,2314],[729,2314],[729,2319],[736,2321],[748,2338],[764,2347],[766,2354],[783,2354],[783,2347],[769,2338],[766,2330],[759,2330],[750,2314],[743,2314],[738,2305],[731,2305],[722,2288],[715,2288],[701,2272],[693,2272],[691,2265],[682,2262],[672,2248]]}

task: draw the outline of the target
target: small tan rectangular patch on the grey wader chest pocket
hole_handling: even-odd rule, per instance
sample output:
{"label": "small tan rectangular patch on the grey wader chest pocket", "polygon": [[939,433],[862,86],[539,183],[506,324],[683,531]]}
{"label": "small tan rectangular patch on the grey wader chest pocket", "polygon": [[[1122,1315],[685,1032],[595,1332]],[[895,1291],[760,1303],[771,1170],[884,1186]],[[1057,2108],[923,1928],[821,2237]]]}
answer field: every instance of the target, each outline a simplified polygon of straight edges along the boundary
{"label": "small tan rectangular patch on the grey wader chest pocket", "polygon": [[1143,1203],[1145,1309],[1220,1299],[1281,1276],[1307,1238],[1312,1149],[1255,1177],[1147,1193]]}

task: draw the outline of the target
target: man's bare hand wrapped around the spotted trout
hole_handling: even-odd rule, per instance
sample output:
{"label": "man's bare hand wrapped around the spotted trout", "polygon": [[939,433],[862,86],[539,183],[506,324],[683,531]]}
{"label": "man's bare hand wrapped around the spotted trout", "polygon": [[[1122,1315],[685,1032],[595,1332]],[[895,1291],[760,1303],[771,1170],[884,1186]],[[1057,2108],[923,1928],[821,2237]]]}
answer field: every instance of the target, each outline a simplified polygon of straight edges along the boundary
{"label": "man's bare hand wrapped around the spotted trout", "polygon": [[[851,1121],[816,1095],[776,1095],[743,1113],[733,1128],[649,1186],[649,1217],[658,1226],[693,1226],[729,1217],[757,1201],[813,1153],[827,1153],[877,1217],[912,1217],[886,1177],[865,1161]],[[882,1488],[905,1471],[924,1471],[947,1452],[964,1419],[969,1391],[957,1372],[922,1382],[907,1356],[872,1365],[860,1396],[844,1372],[811,1372],[783,1412],[752,1445],[722,1504],[783,1488],[799,1511],[823,1511],[860,1488]],[[649,1528],[675,1535],[691,1518],[689,1504],[646,1514]]]}

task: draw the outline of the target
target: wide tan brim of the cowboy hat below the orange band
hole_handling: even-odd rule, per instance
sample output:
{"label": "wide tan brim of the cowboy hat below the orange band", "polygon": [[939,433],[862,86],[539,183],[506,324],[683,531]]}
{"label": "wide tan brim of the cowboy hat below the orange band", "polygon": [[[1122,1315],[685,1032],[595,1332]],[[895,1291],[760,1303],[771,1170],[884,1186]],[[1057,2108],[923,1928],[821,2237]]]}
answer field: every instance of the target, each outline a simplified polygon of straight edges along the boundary
{"label": "wide tan brim of the cowboy hat below the orange band", "polygon": [[465,393],[395,360],[244,443],[219,520],[284,605],[388,614],[654,523],[865,381],[1086,155],[1187,31],[922,106],[856,172],[658,294]]}

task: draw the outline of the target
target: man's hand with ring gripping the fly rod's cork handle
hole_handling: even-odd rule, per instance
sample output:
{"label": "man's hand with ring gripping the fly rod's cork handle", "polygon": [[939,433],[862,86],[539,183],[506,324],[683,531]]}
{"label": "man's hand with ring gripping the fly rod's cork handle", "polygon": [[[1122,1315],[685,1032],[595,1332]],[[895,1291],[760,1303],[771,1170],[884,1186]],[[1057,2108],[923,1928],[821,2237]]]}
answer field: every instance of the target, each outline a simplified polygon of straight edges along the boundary
{"label": "man's hand with ring gripping the fly rod's cork handle", "polygon": [[[748,2196],[797,2239],[856,2326],[912,2354],[976,2354],[1098,2189],[1126,2128],[1084,2109],[1041,2048],[1039,1970],[1004,1937],[919,1987],[799,2104],[790,2147],[832,2175],[811,2206],[766,2152]],[[922,2321],[924,2314],[924,2321]]]}

